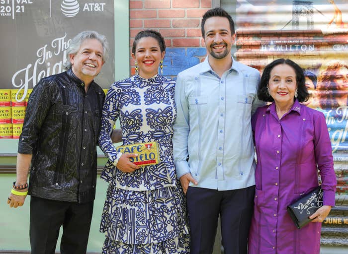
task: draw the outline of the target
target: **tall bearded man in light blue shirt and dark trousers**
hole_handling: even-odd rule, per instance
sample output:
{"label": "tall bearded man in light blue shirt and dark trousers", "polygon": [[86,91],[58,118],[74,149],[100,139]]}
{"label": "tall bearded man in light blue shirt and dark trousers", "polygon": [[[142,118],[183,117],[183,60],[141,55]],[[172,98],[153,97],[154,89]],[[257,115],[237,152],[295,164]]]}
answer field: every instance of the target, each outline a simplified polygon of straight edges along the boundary
{"label": "tall bearded man in light blue shirt and dark trousers", "polygon": [[220,214],[224,253],[246,254],[260,73],[232,58],[234,22],[224,9],[203,15],[202,36],[208,57],[180,72],[175,86],[174,161],[190,215],[190,253],[212,253]]}

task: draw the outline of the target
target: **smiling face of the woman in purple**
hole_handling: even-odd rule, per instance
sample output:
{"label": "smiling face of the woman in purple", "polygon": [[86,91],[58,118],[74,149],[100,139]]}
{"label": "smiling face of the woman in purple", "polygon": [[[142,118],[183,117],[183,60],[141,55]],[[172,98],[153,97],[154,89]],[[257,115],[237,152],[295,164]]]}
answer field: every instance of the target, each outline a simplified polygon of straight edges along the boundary
{"label": "smiling face of the woman in purple", "polygon": [[292,105],[297,88],[295,70],[287,64],[278,64],[270,71],[270,96],[276,104]]}

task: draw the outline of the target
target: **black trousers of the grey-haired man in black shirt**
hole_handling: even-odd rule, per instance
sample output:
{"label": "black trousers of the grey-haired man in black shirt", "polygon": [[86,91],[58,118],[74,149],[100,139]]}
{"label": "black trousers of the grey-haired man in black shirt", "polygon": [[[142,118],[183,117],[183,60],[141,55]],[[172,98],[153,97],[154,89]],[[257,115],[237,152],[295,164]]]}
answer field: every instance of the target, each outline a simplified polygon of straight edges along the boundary
{"label": "black trousers of the grey-haired man in black shirt", "polygon": [[93,201],[62,202],[31,196],[30,245],[32,254],[54,254],[63,225],[62,254],[86,254]]}

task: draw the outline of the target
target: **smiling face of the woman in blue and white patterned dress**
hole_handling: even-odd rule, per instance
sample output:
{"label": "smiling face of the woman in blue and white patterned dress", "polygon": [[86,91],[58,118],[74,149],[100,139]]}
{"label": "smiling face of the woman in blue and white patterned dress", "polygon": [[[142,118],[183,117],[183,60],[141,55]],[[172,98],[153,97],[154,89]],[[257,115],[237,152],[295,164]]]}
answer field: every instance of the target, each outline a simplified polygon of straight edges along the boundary
{"label": "smiling face of the woman in blue and white patterned dress", "polygon": [[139,75],[151,78],[158,73],[160,61],[164,59],[165,52],[161,52],[158,41],[153,37],[139,39],[133,59],[138,63]]}

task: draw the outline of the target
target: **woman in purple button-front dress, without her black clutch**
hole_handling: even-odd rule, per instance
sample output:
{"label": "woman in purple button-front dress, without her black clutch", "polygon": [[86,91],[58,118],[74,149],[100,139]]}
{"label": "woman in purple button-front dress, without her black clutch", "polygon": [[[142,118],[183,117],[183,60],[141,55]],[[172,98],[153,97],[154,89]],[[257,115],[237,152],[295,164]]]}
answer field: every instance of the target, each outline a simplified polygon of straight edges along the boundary
{"label": "woman in purple button-front dress, without her black clutch", "polygon": [[[272,102],[252,119],[258,164],[249,254],[319,254],[321,222],[335,205],[336,176],[323,113],[300,102],[308,99],[303,70],[291,60],[268,64],[259,99]],[[286,206],[318,187],[324,205],[297,229]]]}

